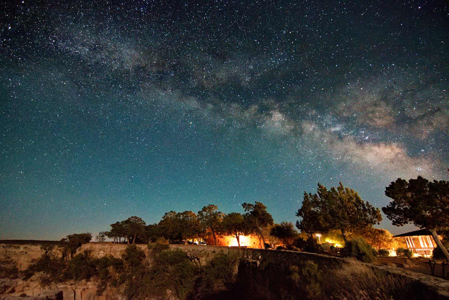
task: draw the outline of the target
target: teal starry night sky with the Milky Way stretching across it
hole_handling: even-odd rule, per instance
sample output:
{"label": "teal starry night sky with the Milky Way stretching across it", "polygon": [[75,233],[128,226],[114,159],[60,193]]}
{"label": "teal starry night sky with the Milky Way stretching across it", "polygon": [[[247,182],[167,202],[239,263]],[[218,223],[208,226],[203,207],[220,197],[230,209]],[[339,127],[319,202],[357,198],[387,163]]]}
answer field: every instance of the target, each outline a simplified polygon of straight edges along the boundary
{"label": "teal starry night sky with the Milky Way stretching across it", "polygon": [[273,2],[3,3],[0,239],[447,180],[448,6]]}

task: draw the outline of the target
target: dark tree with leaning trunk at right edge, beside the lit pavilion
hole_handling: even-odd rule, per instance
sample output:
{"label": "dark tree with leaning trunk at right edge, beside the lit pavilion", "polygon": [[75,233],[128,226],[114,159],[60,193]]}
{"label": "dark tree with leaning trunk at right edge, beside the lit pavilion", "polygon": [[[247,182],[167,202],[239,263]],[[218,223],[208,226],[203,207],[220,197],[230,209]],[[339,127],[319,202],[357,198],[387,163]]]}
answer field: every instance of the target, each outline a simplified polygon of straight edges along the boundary
{"label": "dark tree with leaning trunk at right edge, beside the lit pavilion", "polygon": [[392,224],[413,223],[431,232],[436,245],[449,260],[449,253],[438,237],[438,231],[449,227],[449,182],[433,182],[418,176],[408,182],[398,178],[385,188],[385,195],[393,199],[382,211]]}

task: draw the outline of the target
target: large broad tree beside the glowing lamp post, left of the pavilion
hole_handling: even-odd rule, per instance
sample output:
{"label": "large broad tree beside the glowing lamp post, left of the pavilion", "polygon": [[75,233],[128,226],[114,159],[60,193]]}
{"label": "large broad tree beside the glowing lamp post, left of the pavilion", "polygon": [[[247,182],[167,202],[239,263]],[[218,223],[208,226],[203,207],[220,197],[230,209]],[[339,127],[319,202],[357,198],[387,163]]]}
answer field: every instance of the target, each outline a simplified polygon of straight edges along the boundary
{"label": "large broad tree beside the glowing lamp post, left of the pavilion", "polygon": [[313,230],[328,232],[338,229],[346,243],[348,232],[371,227],[382,220],[379,208],[362,201],[357,192],[345,188],[341,182],[337,188],[330,190],[318,184],[317,193],[304,192],[305,207],[301,207],[296,214],[303,218],[299,229],[304,228],[309,234]]}

